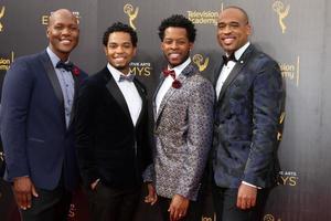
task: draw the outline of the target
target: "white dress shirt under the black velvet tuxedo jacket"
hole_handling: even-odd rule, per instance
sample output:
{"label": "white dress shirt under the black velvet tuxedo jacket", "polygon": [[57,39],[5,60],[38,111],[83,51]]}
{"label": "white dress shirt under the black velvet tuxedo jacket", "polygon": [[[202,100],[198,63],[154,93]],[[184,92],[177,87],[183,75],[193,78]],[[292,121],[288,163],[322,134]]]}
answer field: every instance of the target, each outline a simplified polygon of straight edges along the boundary
{"label": "white dress shirt under the black velvet tuxedo jacket", "polygon": [[119,77],[120,75],[122,75],[122,73],[117,69],[115,69],[114,66],[111,66],[109,63],[107,64],[107,69],[111,73],[116,84],[118,85],[122,96],[125,97],[130,112],[132,123],[136,126],[142,108],[142,99],[138,93],[138,90],[134,82],[129,82],[129,81],[119,82]]}

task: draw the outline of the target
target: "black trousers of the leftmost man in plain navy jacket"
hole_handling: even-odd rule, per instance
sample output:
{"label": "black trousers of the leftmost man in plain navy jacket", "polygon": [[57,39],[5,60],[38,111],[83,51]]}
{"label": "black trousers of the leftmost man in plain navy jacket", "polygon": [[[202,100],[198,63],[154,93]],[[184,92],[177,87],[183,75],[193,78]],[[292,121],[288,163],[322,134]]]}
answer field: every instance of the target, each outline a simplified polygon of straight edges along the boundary
{"label": "black trousers of the leftmost man in plain navy jacket", "polygon": [[64,187],[54,190],[36,188],[38,198],[32,197],[32,207],[20,210],[23,221],[66,221],[72,201],[72,193]]}

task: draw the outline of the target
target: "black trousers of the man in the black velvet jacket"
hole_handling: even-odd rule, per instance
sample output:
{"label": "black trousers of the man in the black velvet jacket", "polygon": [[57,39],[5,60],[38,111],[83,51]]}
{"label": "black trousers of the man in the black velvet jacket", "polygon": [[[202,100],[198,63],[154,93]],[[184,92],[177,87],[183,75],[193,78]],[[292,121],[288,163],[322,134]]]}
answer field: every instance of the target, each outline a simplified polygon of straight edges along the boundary
{"label": "black trousers of the man in the black velvet jacket", "polygon": [[93,221],[132,221],[140,199],[141,187],[114,189],[99,182],[88,190]]}

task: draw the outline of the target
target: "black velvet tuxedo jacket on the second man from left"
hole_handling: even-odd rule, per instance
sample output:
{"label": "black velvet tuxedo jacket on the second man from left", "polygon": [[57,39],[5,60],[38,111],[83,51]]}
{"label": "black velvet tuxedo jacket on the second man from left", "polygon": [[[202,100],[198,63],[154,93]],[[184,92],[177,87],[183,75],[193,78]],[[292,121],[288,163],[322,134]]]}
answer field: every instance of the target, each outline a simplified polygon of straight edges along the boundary
{"label": "black velvet tuxedo jacket on the second man from left", "polygon": [[88,77],[78,93],[76,147],[83,181],[96,179],[111,188],[132,188],[141,183],[143,169],[151,164],[148,138],[146,88],[134,83],[142,108],[136,127],[107,67]]}

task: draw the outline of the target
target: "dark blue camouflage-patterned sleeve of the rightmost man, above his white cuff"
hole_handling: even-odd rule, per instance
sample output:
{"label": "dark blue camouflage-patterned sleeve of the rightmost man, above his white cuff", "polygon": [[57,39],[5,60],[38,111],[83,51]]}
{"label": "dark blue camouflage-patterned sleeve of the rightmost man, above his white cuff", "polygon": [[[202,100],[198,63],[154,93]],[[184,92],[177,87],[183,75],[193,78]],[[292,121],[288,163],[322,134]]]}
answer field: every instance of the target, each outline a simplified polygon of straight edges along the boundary
{"label": "dark blue camouflage-patterned sleeve of the rightmost man, above his white cuff", "polygon": [[277,154],[277,131],[282,104],[278,64],[267,60],[253,84],[253,138],[243,181],[264,188]]}

